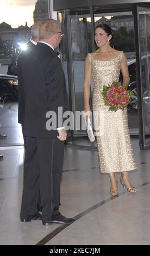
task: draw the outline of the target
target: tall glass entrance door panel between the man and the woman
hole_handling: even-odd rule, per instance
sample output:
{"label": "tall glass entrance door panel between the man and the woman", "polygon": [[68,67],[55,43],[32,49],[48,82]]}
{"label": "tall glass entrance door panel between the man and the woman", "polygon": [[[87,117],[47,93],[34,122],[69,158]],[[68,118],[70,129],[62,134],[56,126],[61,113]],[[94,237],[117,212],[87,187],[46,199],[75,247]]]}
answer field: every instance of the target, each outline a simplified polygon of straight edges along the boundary
{"label": "tall glass entrance door panel between the man and the woman", "polygon": [[90,14],[67,15],[68,58],[70,63],[71,107],[74,116],[74,136],[87,135],[84,110],[84,65],[88,52],[92,52]]}

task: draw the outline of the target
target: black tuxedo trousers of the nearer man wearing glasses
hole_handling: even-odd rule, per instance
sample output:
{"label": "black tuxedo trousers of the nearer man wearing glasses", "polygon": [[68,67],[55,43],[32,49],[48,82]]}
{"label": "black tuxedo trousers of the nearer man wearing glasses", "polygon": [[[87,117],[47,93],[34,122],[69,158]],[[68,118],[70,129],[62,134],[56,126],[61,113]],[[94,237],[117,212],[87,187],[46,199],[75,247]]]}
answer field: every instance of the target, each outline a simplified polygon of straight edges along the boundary
{"label": "black tuxedo trousers of the nearer man wearing glasses", "polygon": [[60,203],[60,181],[64,142],[58,138],[25,137],[24,180],[21,218],[37,214],[39,193],[42,221],[52,220]]}

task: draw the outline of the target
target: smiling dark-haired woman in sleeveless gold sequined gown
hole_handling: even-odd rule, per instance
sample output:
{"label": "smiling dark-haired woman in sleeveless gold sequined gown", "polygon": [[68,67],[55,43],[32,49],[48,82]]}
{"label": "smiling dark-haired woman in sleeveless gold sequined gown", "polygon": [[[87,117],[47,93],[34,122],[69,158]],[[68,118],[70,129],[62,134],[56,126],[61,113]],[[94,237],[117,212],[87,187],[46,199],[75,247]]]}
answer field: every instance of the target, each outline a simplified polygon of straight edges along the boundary
{"label": "smiling dark-haired woman in sleeveless gold sequined gown", "polygon": [[[127,59],[122,51],[117,51],[109,45],[113,36],[112,29],[107,24],[96,27],[95,41],[98,50],[89,53],[85,59],[84,79],[84,111],[90,111],[91,75],[94,80],[93,92],[93,119],[94,125],[100,124],[100,133],[97,133],[97,147],[99,166],[102,173],[109,173],[110,196],[117,196],[115,173],[121,172],[121,184],[129,192],[136,192],[136,188],[129,180],[128,171],[136,169],[133,149],[130,143],[127,109],[116,112],[108,111],[104,105],[102,90],[104,84],[118,81],[120,71],[123,76],[123,85],[129,84]],[[87,115],[87,114],[86,114]],[[101,120],[102,119],[102,120]],[[101,127],[103,124],[103,127]],[[101,129],[104,128],[104,131]]]}

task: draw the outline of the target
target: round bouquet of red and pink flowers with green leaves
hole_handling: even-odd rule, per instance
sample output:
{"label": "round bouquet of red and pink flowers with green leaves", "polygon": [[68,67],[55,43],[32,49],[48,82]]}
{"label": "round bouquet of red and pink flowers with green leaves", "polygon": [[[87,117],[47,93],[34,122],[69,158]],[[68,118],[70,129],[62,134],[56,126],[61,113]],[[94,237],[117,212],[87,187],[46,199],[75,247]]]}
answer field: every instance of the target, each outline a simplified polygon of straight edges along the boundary
{"label": "round bouquet of red and pink flowers with green leaves", "polygon": [[122,86],[120,82],[112,82],[112,84],[103,86],[104,104],[109,107],[110,111],[124,110],[128,106],[134,94],[127,87]]}

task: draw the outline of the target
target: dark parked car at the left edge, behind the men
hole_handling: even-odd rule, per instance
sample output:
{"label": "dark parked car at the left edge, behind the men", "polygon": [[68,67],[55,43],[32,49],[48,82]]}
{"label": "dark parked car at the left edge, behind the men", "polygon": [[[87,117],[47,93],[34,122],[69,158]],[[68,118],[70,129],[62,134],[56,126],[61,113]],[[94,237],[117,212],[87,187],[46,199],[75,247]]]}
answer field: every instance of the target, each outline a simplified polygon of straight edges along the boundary
{"label": "dark parked car at the left edge, behind the men", "polygon": [[18,100],[17,76],[0,74],[0,98],[3,101]]}

